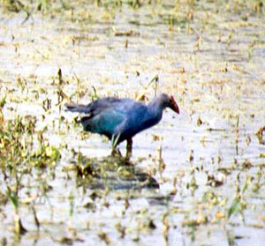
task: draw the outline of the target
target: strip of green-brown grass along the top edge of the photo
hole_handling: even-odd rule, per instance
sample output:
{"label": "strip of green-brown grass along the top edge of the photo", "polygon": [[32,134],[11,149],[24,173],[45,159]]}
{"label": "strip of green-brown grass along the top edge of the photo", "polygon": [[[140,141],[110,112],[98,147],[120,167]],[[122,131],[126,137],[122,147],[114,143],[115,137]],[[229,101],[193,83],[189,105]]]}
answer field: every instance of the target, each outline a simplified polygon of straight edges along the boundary
{"label": "strip of green-brown grass along the top edge of the photo", "polygon": [[[23,23],[30,17],[33,17],[37,12],[42,12],[43,15],[57,16],[62,15],[64,18],[71,19],[72,22],[87,22],[96,23],[101,21],[98,19],[98,14],[89,11],[89,7],[93,6],[101,13],[102,20],[112,23],[115,16],[128,9],[131,11],[141,11],[142,8],[151,10],[149,22],[139,22],[132,20],[131,23],[139,25],[157,25],[157,20],[152,24],[154,17],[162,19],[162,23],[166,24],[171,31],[174,27],[190,30],[190,23],[200,20],[204,25],[215,25],[214,21],[209,17],[211,15],[223,14],[225,12],[237,14],[241,19],[247,21],[250,15],[264,15],[265,7],[262,0],[223,0],[216,1],[193,1],[193,0],[178,0],[178,1],[144,1],[144,0],[91,0],[86,1],[13,1],[2,0],[0,4],[6,11],[26,13],[26,18]],[[83,8],[79,8],[83,6]],[[88,8],[87,8],[88,7]],[[209,10],[215,9],[215,12],[209,13]],[[201,10],[207,12],[207,17],[201,15]],[[69,14],[70,12],[70,14]],[[149,11],[148,11],[149,12]]]}

